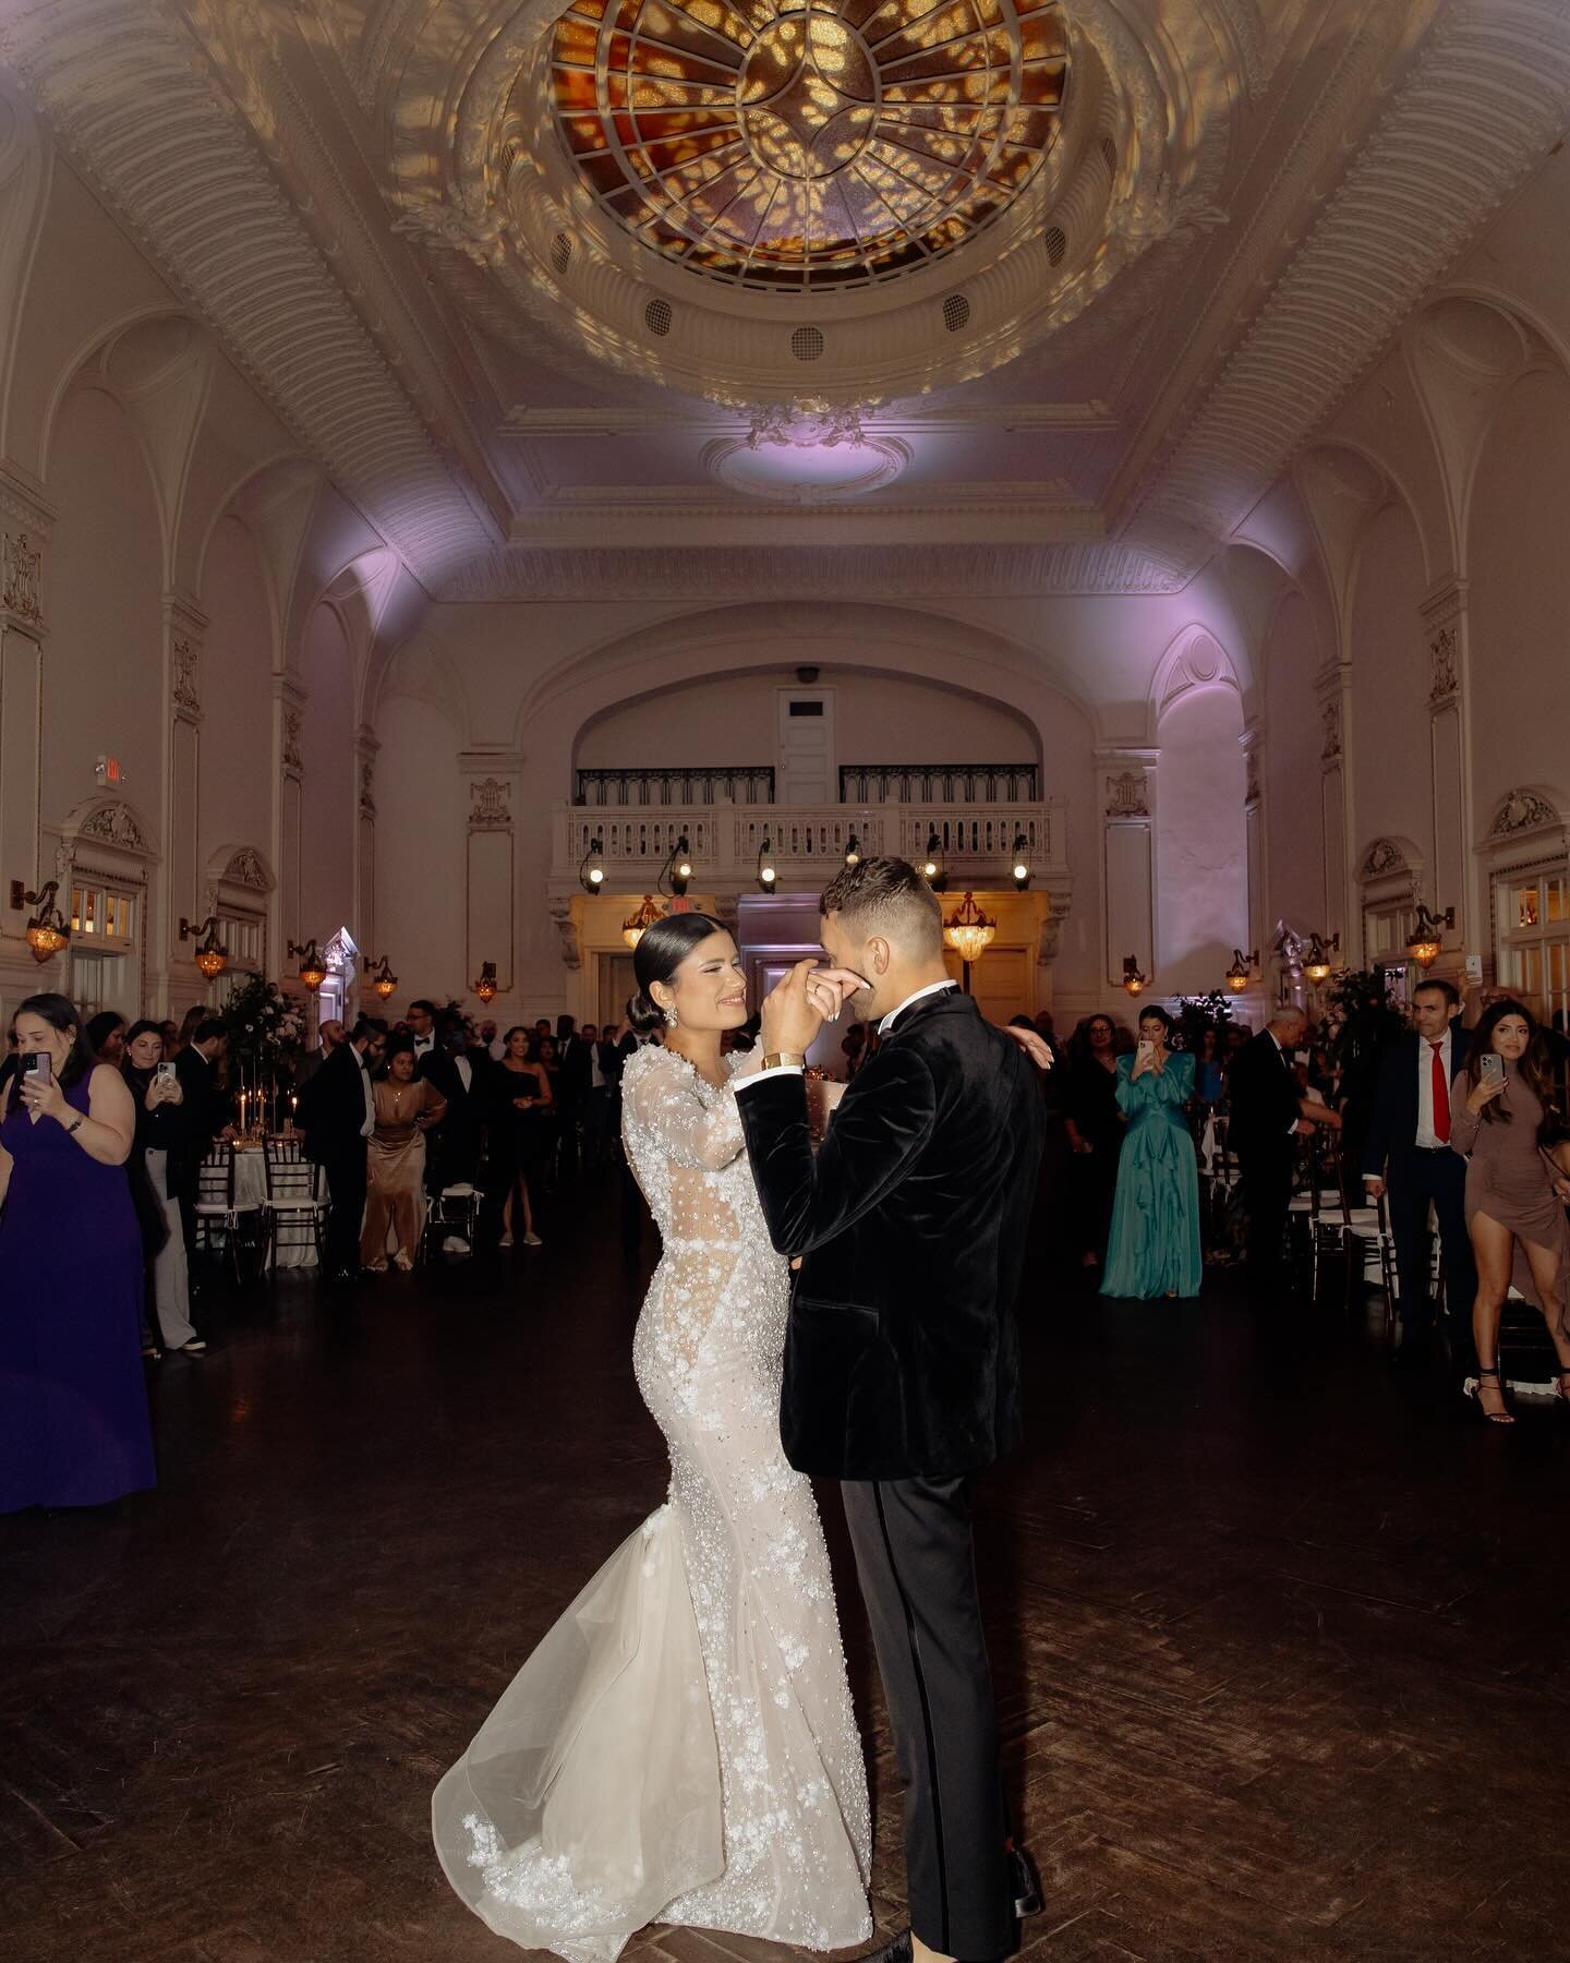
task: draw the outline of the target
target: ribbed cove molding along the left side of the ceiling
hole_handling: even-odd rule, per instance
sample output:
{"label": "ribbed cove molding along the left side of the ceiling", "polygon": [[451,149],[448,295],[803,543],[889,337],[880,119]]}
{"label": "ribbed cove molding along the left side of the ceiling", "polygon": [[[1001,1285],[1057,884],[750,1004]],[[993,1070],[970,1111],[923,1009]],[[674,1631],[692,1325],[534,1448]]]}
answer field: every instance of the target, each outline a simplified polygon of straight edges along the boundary
{"label": "ribbed cove molding along the left side of the ceiling", "polygon": [[[495,540],[175,12],[37,0],[0,57],[267,402],[428,587]],[[363,296],[361,296],[363,298]]]}

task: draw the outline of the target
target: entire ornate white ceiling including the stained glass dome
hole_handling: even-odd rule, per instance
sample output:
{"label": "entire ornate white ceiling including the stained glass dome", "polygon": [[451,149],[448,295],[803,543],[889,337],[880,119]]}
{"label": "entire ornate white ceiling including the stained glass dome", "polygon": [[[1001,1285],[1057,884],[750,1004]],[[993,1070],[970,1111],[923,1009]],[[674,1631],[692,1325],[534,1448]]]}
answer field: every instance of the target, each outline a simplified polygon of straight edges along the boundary
{"label": "entire ornate white ceiling including the stained glass dome", "polygon": [[1570,126],[1564,0],[597,6],[0,14],[434,597],[1178,591]]}

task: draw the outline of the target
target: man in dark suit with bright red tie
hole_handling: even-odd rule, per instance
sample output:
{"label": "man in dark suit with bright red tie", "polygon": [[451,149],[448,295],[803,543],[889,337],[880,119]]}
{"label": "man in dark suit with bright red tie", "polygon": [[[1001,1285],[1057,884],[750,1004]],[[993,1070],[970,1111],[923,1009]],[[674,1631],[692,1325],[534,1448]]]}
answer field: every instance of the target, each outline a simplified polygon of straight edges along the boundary
{"label": "man in dark suit with bright red tie", "polygon": [[1460,995],[1448,982],[1419,982],[1411,997],[1413,1033],[1380,1060],[1362,1182],[1370,1199],[1389,1194],[1389,1235],[1401,1282],[1401,1347],[1395,1360],[1421,1368],[1433,1337],[1429,1292],[1429,1207],[1444,1248],[1444,1294],[1456,1333],[1470,1329],[1478,1270],[1466,1233],[1466,1160],[1450,1150],[1450,1086],[1466,1064],[1472,1036],[1454,1015]]}

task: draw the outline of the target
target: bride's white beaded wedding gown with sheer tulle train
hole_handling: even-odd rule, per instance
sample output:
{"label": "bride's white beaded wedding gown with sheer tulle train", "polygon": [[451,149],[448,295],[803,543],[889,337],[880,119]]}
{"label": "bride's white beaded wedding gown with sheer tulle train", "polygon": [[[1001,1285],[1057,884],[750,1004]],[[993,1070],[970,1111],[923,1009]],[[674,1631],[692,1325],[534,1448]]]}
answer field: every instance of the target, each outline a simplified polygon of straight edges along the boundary
{"label": "bride's white beaded wedding gown with sheer tulle train", "polygon": [[862,1943],[865,1767],[812,1488],[779,1445],[789,1270],[730,1088],[642,1048],[622,1133],[663,1237],[632,1356],[669,1498],[436,1788],[436,1849],[498,1936],[569,1963],[650,1922]]}

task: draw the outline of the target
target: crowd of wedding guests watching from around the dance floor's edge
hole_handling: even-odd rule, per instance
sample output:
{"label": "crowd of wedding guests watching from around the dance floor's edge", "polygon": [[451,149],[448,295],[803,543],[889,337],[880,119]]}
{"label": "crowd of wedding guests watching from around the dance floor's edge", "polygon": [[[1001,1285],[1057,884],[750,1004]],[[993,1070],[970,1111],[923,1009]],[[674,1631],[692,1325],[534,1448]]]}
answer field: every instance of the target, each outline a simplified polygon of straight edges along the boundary
{"label": "crowd of wedding guests watching from around the dance floor's edge", "polygon": [[[1499,1327],[1515,1290],[1544,1319],[1570,1402],[1570,1042],[1511,997],[1464,1027],[1448,982],[1415,989],[1411,1023],[1358,1056],[1278,1007],[1252,1035],[1181,1035],[1156,1003],[1134,1031],[1097,1013],[1060,1044],[1050,1015],[1017,1017],[1054,1054],[1042,1074],[1042,1219],[1119,1298],[1193,1298],[1207,1258],[1201,1152],[1242,1221],[1254,1303],[1282,1317],[1295,1288],[1295,1186],[1360,1184],[1387,1209],[1399,1360],[1431,1360],[1431,1221],[1444,1256],[1452,1349],[1470,1327],[1470,1390],[1513,1421]],[[732,1046],[748,1046],[740,1031]],[[620,1082],[640,1042],[571,1017],[498,1031],[420,999],[396,1023],[328,1021],[292,1088],[298,1144],[328,1190],[322,1264],[347,1282],[410,1268],[432,1199],[444,1250],[540,1247],[542,1197],[581,1168],[618,1166],[628,1245],[642,1201],[620,1152]],[[873,1027],[842,1038],[854,1080]],[[1348,1062],[1350,1054],[1350,1062]],[[141,1353],[200,1356],[196,1241],[202,1162],[234,1137],[226,1027],[98,1015],[33,995],[0,1064],[0,1512],[90,1506],[153,1482]],[[1234,1176],[1234,1178],[1232,1178]],[[1211,1248],[1215,1252],[1215,1248]]]}

